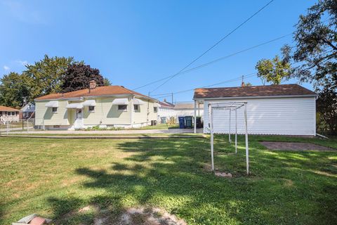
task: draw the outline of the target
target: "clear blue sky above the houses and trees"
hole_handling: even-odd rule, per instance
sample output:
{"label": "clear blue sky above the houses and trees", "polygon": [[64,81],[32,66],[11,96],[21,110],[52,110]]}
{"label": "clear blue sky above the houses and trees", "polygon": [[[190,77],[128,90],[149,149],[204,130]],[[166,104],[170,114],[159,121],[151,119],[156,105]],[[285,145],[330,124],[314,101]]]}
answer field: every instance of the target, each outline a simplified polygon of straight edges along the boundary
{"label": "clear blue sky above the houses and trees", "polygon": [[[175,74],[267,1],[0,0],[0,77],[9,71],[22,72],[25,64],[44,54],[74,56],[98,68],[112,84],[134,89]],[[293,32],[298,16],[313,4],[275,0],[190,68]],[[256,62],[274,57],[283,44],[292,44],[291,36],[179,75],[152,95],[256,72]],[[257,77],[245,81],[261,84]],[[159,84],[136,91],[148,94]],[[240,84],[237,80],[220,86]],[[192,101],[192,95],[193,91],[176,94],[174,101]]]}

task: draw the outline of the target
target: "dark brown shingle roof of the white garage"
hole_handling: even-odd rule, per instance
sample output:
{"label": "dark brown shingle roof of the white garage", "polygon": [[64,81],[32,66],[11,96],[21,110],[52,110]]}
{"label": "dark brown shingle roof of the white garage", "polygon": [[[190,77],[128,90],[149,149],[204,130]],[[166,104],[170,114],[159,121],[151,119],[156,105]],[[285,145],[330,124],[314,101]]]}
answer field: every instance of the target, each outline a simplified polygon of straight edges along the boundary
{"label": "dark brown shingle roof of the white garage", "polygon": [[218,87],[210,89],[195,89],[196,98],[230,98],[230,97],[255,97],[255,96],[303,96],[317,94],[309,89],[305,89],[298,84],[279,84],[265,86],[235,86]]}

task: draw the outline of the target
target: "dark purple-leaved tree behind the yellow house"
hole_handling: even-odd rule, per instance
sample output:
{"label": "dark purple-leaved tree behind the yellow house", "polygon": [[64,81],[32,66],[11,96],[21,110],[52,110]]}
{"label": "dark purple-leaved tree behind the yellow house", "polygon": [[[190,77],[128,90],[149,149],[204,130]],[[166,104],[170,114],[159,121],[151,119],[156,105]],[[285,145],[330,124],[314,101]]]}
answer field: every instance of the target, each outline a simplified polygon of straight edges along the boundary
{"label": "dark purple-leaved tree behind the yellow house", "polygon": [[74,63],[65,72],[61,87],[62,92],[87,89],[91,80],[95,80],[97,86],[104,86],[100,70],[91,68],[90,65],[84,63]]}

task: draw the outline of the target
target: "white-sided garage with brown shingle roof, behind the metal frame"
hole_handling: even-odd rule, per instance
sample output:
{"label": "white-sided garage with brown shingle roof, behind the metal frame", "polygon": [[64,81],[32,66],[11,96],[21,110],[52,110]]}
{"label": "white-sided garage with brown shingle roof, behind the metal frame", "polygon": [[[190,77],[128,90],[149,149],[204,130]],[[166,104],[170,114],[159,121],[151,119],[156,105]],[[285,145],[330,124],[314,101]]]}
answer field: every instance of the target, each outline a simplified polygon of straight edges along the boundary
{"label": "white-sided garage with brown shingle roof, behind the metal frame", "polygon": [[[247,102],[249,134],[316,134],[315,92],[298,84],[195,89],[194,101],[204,103],[204,133],[209,133],[210,102]],[[214,131],[227,134],[229,113],[214,110]],[[244,110],[238,110],[238,133],[244,133]],[[231,132],[234,133],[234,113]]]}

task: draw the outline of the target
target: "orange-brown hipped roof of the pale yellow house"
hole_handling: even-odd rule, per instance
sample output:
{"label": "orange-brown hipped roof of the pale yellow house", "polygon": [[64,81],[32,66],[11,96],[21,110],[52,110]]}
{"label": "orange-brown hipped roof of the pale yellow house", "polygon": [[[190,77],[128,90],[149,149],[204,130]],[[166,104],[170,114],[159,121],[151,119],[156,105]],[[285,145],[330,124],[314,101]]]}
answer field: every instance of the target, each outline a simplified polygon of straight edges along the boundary
{"label": "orange-brown hipped roof of the pale yellow house", "polygon": [[[81,97],[88,97],[88,96],[113,96],[113,95],[119,95],[119,94],[133,94],[142,96],[144,98],[150,98],[148,96],[145,96],[143,94],[140,94],[136,91],[131,91],[129,89],[126,89],[124,86],[97,86],[95,89],[81,89],[78,91],[71,91],[67,93],[55,93],[55,94],[48,94],[46,96],[41,96],[39,98],[35,98],[36,101],[41,100],[51,100],[51,99],[67,99],[67,98],[81,98]],[[154,101],[156,99],[150,98]]]}

